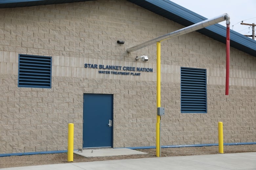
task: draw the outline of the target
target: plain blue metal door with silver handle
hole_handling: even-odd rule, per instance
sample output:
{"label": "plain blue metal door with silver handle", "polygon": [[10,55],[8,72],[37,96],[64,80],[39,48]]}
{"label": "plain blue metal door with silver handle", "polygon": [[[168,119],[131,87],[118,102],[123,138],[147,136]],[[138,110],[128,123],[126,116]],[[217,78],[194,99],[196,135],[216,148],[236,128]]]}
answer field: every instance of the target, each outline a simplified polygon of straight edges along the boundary
{"label": "plain blue metal door with silver handle", "polygon": [[112,120],[112,94],[84,94],[83,148],[113,147]]}

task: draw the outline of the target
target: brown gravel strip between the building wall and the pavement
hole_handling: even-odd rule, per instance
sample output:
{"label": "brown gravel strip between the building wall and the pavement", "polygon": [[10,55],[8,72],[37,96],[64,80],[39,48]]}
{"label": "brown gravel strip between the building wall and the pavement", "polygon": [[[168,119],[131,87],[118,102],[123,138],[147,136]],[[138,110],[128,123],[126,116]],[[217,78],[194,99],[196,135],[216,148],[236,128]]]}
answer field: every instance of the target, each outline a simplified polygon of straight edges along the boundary
{"label": "brown gravel strip between the building wall and the pavement", "polygon": [[[85,157],[74,154],[74,162],[106,161],[106,160],[156,157],[156,149],[137,149],[137,150],[141,152],[146,152],[148,154],[94,157],[94,158],[85,158]],[[171,156],[187,156],[187,155],[208,155],[208,154],[218,154],[218,151],[219,151],[218,146],[162,148],[161,156],[171,157]],[[224,145],[224,154],[225,153],[242,153],[242,152],[256,152],[256,144]],[[67,157],[68,157],[67,153],[0,157],[0,168],[45,165],[45,164],[56,164],[56,163],[69,163],[67,161]]]}

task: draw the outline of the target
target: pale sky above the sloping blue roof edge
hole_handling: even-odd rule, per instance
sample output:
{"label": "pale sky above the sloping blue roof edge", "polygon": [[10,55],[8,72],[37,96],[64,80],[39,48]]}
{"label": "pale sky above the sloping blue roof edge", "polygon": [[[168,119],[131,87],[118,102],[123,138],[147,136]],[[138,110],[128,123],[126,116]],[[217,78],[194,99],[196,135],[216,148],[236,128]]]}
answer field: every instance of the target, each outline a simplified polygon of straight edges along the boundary
{"label": "pale sky above the sloping blue roof edge", "polygon": [[[227,13],[230,16],[230,29],[243,35],[252,35],[252,27],[241,25],[256,24],[256,0],[171,0],[205,18],[214,18]],[[226,21],[219,23],[226,26]]]}

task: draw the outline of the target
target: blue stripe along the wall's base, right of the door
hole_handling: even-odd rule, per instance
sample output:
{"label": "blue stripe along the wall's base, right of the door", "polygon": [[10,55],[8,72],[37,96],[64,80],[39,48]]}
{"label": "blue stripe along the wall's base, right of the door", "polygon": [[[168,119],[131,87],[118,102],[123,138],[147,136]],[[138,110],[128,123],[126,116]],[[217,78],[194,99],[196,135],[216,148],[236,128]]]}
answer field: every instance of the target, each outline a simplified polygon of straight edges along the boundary
{"label": "blue stripe along the wall's base, right of the door", "polygon": [[[241,144],[256,144],[256,142],[244,142],[244,143],[224,143],[223,145],[241,145]],[[219,144],[184,144],[184,145],[162,145],[161,148],[171,147],[202,147],[202,146],[218,146]],[[139,147],[126,147],[128,149],[152,149],[156,146],[139,146]]]}

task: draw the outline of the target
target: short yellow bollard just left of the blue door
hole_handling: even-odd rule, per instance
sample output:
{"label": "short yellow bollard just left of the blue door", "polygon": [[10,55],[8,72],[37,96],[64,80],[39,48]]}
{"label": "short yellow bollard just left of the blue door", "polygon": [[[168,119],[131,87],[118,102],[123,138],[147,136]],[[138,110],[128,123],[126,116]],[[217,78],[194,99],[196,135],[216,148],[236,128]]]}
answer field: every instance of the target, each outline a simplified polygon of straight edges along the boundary
{"label": "short yellow bollard just left of the blue door", "polygon": [[74,124],[68,125],[68,162],[73,162],[74,152]]}

